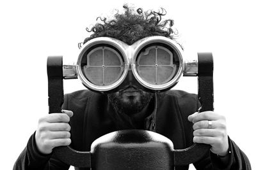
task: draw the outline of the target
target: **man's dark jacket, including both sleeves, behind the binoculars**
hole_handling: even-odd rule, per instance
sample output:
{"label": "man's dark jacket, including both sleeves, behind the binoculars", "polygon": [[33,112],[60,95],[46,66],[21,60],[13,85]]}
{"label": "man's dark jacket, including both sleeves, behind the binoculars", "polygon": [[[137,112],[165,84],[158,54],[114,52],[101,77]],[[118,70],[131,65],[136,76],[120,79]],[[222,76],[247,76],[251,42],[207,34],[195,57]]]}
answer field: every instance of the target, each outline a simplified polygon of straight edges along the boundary
{"label": "man's dark jacket, including both sleeves, behind the binoculars", "polygon": [[[158,94],[151,101],[153,113],[143,120],[142,129],[155,131],[171,139],[175,149],[188,148],[193,145],[193,124],[188,116],[198,109],[195,94],[180,90],[170,90]],[[108,97],[88,90],[81,90],[65,95],[63,109],[72,110],[70,118],[72,148],[79,151],[90,151],[92,142],[120,129],[134,129],[129,117],[115,114],[108,103]],[[251,169],[250,162],[239,147],[228,138],[230,159],[228,166],[223,166],[220,159],[209,152],[204,159],[195,162],[196,169]],[[189,166],[175,167],[177,170],[188,169]],[[43,155],[35,144],[35,133],[29,138],[28,145],[20,153],[13,169],[68,169],[69,166],[54,157],[54,154]],[[78,168],[76,169],[83,169]],[[86,168],[84,168],[86,169]]]}

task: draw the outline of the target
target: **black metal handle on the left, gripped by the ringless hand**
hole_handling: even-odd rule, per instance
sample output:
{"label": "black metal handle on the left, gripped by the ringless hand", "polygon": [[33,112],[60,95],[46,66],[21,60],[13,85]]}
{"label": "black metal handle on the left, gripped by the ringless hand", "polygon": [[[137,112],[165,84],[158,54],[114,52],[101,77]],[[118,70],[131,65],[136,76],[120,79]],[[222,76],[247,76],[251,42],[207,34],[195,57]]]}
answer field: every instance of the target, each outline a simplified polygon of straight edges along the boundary
{"label": "black metal handle on the left, gripped by the ringless hand", "polygon": [[[47,58],[49,113],[61,113],[64,99],[62,58],[62,56]],[[58,159],[72,166],[91,167],[90,152],[78,152],[70,146],[56,147],[53,152]]]}

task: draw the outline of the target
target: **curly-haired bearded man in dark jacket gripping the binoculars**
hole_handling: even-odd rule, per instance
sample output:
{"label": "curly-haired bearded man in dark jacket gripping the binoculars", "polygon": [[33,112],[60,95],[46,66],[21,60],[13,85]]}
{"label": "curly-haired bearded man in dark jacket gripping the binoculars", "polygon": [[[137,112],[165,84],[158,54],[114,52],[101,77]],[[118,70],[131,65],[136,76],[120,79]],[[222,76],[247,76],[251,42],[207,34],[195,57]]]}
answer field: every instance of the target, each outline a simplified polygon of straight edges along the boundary
{"label": "curly-haired bearded man in dark jacket gripping the binoculars", "polygon": [[[97,37],[116,38],[128,45],[148,36],[173,39],[173,20],[161,20],[164,10],[143,13],[141,8],[136,11],[128,6],[124,8],[125,13],[117,13],[113,20],[107,22],[100,18],[103,24],[96,24],[90,30],[92,36],[84,39],[84,43]],[[65,114],[52,113],[40,118],[38,129],[13,169],[68,169],[67,164],[52,155],[53,148],[70,145],[88,151],[95,139],[122,129],[155,131],[171,139],[175,149],[193,143],[211,145],[209,154],[195,162],[196,169],[251,169],[246,155],[228,138],[225,117],[213,111],[196,113],[199,106],[195,95],[179,90],[156,96],[144,92],[130,71],[120,90],[113,94],[88,90],[67,94],[63,104]],[[188,169],[188,166],[176,169]]]}

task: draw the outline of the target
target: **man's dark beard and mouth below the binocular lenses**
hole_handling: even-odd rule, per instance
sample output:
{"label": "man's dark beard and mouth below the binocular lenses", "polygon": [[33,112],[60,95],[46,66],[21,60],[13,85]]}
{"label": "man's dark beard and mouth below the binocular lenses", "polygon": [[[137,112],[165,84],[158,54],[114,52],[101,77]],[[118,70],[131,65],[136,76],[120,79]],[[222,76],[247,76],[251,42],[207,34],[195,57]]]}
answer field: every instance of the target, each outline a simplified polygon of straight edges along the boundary
{"label": "man's dark beard and mouth below the binocular lenses", "polygon": [[127,87],[126,90],[108,94],[108,99],[111,102],[113,108],[119,113],[125,113],[126,115],[134,115],[140,113],[148,103],[150,103],[154,94],[144,92],[143,90],[137,89],[136,87]]}

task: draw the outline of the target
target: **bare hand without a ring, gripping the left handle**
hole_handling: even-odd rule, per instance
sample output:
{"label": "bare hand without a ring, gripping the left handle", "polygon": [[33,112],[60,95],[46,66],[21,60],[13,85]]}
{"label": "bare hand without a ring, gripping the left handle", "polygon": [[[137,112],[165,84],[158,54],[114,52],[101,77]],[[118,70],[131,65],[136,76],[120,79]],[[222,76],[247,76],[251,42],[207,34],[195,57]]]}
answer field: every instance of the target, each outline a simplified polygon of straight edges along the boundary
{"label": "bare hand without a ring, gripping the left handle", "polygon": [[49,154],[56,146],[70,145],[70,117],[72,111],[63,110],[64,113],[51,113],[38,121],[35,139],[36,146],[41,153]]}

